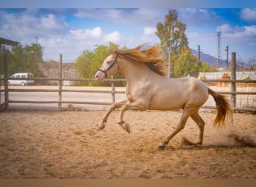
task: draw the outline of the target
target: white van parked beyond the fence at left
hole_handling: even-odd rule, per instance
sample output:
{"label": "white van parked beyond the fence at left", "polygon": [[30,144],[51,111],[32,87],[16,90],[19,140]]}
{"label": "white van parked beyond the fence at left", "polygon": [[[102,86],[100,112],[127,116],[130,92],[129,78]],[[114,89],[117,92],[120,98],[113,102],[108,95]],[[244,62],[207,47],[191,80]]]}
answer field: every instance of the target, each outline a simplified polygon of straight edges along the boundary
{"label": "white van parked beyond the fence at left", "polygon": [[22,80],[22,78],[34,78],[32,73],[15,73],[10,78],[16,78],[19,80],[8,80],[8,85],[33,85],[34,80]]}

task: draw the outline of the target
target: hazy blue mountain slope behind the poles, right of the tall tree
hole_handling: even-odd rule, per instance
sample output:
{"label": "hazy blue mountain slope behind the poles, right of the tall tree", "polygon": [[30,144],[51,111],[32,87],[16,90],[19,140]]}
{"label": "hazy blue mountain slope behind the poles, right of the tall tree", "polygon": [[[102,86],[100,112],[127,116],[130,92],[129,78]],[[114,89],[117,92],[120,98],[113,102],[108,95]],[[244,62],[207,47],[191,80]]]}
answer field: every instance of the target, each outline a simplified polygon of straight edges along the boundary
{"label": "hazy blue mountain slope behind the poles, right of the tall tree", "polygon": [[[191,49],[192,54],[198,57],[198,51],[195,49]],[[200,52],[200,60],[206,61],[208,65],[210,66],[217,66],[217,58],[213,57],[212,55],[206,54],[204,52]],[[230,65],[230,64],[229,64]],[[227,67],[226,60],[222,60],[220,67]]]}

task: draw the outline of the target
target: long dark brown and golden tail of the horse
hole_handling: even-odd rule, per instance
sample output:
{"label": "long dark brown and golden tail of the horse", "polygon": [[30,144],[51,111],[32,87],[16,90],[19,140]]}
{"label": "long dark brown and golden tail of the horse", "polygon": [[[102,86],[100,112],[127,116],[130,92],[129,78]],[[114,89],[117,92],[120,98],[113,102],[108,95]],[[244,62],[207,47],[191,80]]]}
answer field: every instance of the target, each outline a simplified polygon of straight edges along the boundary
{"label": "long dark brown and golden tail of the horse", "polygon": [[208,92],[213,96],[213,99],[216,102],[217,115],[213,122],[213,126],[224,126],[228,120],[231,120],[231,123],[233,123],[233,110],[228,98],[216,93],[210,88],[208,88]]}

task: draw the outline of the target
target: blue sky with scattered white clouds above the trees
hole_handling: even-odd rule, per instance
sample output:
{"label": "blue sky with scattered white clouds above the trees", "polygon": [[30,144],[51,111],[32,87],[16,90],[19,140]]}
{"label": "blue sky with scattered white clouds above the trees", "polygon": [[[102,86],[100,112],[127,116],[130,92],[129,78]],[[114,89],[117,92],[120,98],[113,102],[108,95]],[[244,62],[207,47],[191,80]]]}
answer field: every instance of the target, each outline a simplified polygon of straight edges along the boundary
{"label": "blue sky with scattered white clouds above the trees", "polygon": [[[0,4],[1,5],[1,4]],[[8,7],[8,6],[7,6]],[[42,5],[43,7],[43,5]],[[0,37],[22,45],[38,43],[44,60],[76,61],[85,50],[109,42],[133,48],[141,43],[159,43],[156,24],[171,8],[0,8]],[[238,58],[256,58],[255,8],[175,7],[178,19],[187,26],[189,47],[217,56],[216,31],[222,28],[222,58],[225,47]]]}

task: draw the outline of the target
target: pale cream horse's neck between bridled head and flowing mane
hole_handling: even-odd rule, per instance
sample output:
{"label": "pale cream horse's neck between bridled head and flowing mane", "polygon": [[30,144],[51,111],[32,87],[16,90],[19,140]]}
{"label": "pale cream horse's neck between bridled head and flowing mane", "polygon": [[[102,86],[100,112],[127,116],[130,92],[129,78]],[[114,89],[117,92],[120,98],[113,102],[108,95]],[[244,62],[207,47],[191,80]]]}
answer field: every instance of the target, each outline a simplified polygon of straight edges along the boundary
{"label": "pale cream horse's neck between bridled head and flowing mane", "polygon": [[135,61],[124,60],[119,66],[121,67],[121,73],[123,73],[129,84],[132,84],[132,82],[143,82],[153,74],[145,64]]}

